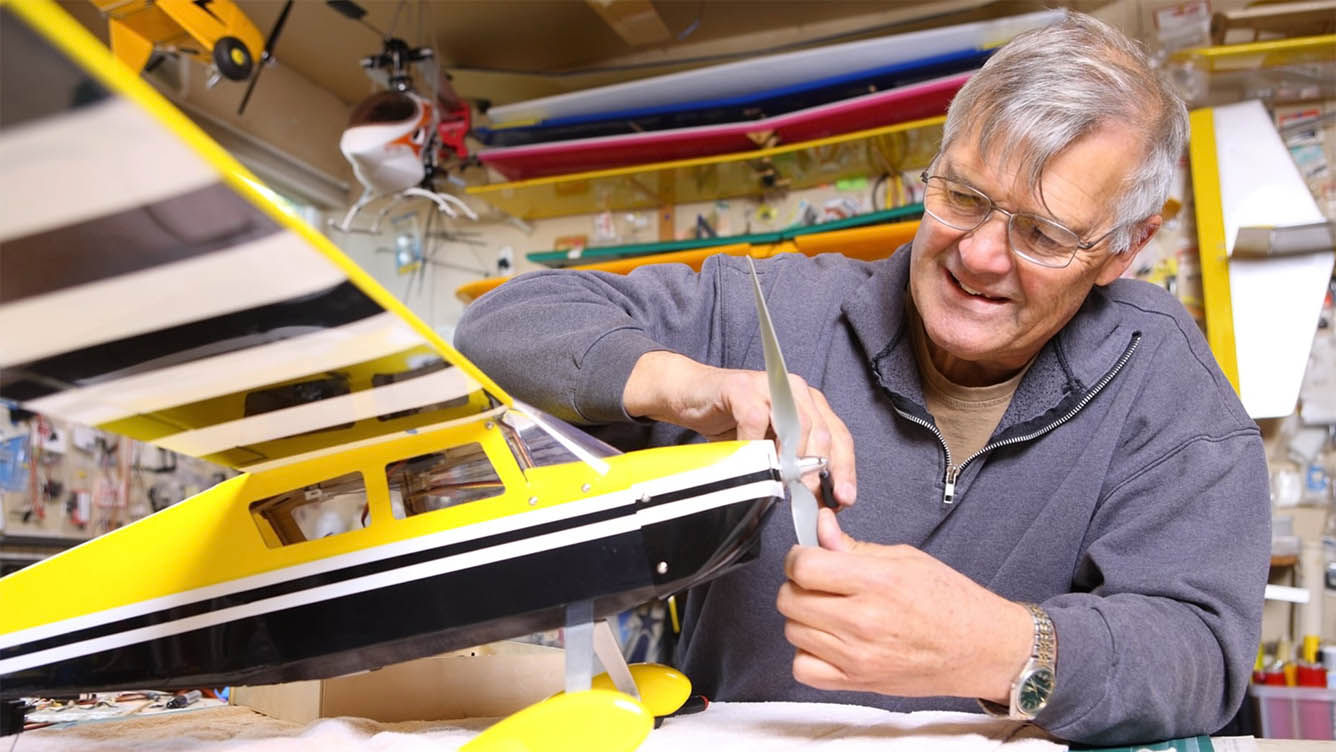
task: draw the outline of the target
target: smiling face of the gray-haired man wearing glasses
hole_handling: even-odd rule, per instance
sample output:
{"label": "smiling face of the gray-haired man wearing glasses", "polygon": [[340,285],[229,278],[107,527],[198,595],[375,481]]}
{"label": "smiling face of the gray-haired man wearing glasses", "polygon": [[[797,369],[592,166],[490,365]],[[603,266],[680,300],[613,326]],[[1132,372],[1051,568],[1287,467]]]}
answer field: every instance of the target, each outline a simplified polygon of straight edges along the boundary
{"label": "smiling face of the gray-haired man wearing glasses", "polygon": [[[967,183],[1007,211],[1053,219],[1082,239],[1112,228],[1113,202],[1142,154],[1125,130],[1097,131],[1049,160],[1041,202],[1025,191],[1014,166],[979,155],[973,134],[963,136],[942,154],[934,175]],[[957,383],[991,383],[1015,373],[1066,325],[1094,285],[1122,274],[1140,247],[1134,242],[1112,255],[1104,240],[1077,251],[1067,267],[1049,268],[1011,254],[1006,228],[1002,212],[970,232],[925,215],[914,236],[910,291],[934,363]]]}

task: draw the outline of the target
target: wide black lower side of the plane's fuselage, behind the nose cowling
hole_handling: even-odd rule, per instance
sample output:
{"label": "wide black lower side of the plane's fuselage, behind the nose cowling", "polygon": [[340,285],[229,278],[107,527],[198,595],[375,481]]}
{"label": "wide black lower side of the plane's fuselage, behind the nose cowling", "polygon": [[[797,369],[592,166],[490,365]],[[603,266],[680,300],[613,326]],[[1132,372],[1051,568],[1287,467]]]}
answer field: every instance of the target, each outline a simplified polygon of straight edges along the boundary
{"label": "wide black lower side of the plane's fuselage, behind the nose cowling", "polygon": [[[569,602],[597,600],[607,616],[649,597],[641,536],[631,530],[27,668],[4,676],[0,697],[337,676],[381,665],[363,652],[436,654],[554,629]],[[302,664],[305,673],[290,668]]]}

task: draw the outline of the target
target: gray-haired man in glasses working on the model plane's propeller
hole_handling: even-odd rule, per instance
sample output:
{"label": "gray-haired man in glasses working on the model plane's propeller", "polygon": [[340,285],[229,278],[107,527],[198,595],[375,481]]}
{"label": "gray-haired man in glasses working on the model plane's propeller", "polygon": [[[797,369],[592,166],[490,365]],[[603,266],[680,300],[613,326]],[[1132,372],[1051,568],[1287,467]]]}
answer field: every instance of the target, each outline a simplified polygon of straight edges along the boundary
{"label": "gray-haired man in glasses working on the model plane's propeller", "polygon": [[[1104,744],[1230,720],[1268,566],[1259,430],[1178,302],[1120,279],[1185,132],[1140,49],[1070,13],[955,98],[910,250],[758,263],[799,454],[830,457],[842,512],[820,548],[771,516],[760,561],[688,594],[677,663],[701,692],[982,704]],[[623,443],[760,438],[751,295],[728,256],[536,272],[457,341]]]}

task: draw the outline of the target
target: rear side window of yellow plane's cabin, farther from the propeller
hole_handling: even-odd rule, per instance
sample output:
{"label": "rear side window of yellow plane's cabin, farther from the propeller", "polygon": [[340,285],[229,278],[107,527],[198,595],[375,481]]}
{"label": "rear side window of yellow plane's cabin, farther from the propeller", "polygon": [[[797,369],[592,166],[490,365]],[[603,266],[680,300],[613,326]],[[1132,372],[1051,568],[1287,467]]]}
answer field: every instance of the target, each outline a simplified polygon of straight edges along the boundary
{"label": "rear side window of yellow plane's cabin, farther from the propeller", "polygon": [[347,473],[251,502],[251,518],[270,548],[359,530],[370,522],[366,484]]}

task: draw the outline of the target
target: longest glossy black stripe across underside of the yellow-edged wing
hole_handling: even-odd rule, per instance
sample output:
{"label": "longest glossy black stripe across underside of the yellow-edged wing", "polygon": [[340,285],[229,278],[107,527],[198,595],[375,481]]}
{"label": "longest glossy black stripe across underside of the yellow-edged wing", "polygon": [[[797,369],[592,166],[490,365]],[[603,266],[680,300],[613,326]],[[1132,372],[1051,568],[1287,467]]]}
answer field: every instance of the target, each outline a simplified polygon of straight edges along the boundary
{"label": "longest glossy black stripe across underside of the yellow-edged wing", "polygon": [[334,329],[382,313],[385,309],[366,293],[351,282],[342,282],[299,298],[7,366],[0,373],[0,397],[35,399],[63,391],[56,385],[65,385],[65,389],[91,386]]}

